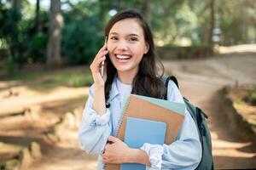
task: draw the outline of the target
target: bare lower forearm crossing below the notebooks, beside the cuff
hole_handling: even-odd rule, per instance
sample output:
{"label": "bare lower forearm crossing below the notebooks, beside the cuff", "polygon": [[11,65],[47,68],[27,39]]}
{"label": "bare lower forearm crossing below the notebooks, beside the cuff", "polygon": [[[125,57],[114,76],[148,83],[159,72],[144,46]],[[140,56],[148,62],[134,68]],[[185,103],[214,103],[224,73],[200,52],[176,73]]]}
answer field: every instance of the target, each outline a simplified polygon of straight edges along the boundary
{"label": "bare lower forearm crossing below the notebooks, beside the cuff", "polygon": [[141,163],[150,167],[151,163],[149,161],[148,155],[144,150],[133,149],[127,153],[126,156],[127,163]]}

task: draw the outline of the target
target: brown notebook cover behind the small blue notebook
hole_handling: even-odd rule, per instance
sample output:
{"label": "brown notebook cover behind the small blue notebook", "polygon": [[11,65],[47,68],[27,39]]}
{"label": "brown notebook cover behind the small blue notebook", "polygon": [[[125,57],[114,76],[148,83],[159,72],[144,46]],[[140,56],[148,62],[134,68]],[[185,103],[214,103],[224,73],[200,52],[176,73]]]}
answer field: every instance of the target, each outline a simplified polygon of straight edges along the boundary
{"label": "brown notebook cover behind the small blue notebook", "polygon": [[[127,117],[135,117],[141,119],[148,119],[158,122],[166,122],[166,139],[165,144],[172,144],[177,138],[177,133],[182,126],[184,116],[170,111],[162,106],[155,105],[147,100],[140,99],[136,95],[131,95],[125,108],[123,117],[119,122],[117,131],[117,138],[124,141],[125,139],[125,127]],[[106,170],[119,170],[120,164],[105,164]]]}

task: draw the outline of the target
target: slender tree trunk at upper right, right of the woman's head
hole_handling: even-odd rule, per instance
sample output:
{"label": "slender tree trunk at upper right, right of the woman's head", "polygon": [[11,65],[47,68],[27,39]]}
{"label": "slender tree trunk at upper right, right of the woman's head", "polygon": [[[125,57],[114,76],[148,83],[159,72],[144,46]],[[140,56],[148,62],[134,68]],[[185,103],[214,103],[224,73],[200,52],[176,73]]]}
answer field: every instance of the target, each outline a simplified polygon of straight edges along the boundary
{"label": "slender tree trunk at upper right, right of the woman's head", "polygon": [[212,31],[214,28],[214,0],[210,0],[210,23],[207,29],[206,42],[205,45],[210,47],[212,45]]}

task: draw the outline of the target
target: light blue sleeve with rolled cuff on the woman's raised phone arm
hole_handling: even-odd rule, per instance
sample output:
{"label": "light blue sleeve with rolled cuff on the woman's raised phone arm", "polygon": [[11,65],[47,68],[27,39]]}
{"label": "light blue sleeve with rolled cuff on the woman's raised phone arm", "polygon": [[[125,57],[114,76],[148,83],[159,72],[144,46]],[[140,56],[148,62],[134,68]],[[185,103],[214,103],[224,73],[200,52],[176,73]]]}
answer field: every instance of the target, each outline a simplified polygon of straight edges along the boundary
{"label": "light blue sleeve with rolled cuff on the woman's raised phone arm", "polygon": [[99,116],[92,109],[94,86],[89,89],[89,96],[84,107],[82,122],[79,126],[79,146],[87,153],[102,154],[110,135],[110,111]]}

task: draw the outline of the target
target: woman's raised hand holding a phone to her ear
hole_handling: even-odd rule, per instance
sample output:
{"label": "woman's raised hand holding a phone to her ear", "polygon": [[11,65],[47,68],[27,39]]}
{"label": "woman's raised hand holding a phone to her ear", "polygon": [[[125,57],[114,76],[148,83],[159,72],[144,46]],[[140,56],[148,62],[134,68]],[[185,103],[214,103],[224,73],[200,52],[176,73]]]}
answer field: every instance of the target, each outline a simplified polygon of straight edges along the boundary
{"label": "woman's raised hand holding a phone to her ear", "polygon": [[[96,54],[95,59],[93,59],[90,65],[90,71],[96,86],[104,87],[105,82],[107,80],[107,64],[108,64],[106,62],[107,54],[108,54],[107,44],[105,44]],[[104,61],[103,76],[101,75],[102,61]]]}

